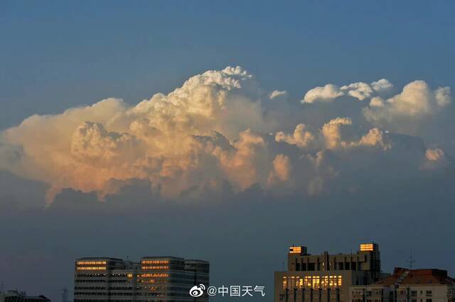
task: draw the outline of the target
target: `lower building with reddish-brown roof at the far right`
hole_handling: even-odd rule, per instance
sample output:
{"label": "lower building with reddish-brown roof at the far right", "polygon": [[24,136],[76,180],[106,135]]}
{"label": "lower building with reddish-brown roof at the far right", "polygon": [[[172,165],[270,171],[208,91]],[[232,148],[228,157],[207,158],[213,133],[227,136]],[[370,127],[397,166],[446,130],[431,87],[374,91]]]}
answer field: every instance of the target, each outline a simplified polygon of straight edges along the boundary
{"label": "lower building with reddish-brown roof at the far right", "polygon": [[403,269],[370,285],[352,286],[351,302],[455,302],[455,279],[441,269]]}

